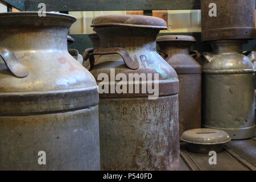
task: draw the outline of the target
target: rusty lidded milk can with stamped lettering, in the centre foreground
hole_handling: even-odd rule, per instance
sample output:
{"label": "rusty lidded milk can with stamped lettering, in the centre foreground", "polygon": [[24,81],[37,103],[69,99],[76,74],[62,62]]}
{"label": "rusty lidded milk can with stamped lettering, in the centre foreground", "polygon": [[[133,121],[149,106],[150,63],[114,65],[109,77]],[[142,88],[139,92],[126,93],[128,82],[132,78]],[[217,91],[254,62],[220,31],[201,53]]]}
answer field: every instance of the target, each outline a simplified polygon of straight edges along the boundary
{"label": "rusty lidded milk can with stamped lettering, in the centre foreground", "polygon": [[101,169],[177,169],[179,81],[156,52],[156,36],[166,23],[152,16],[102,15],[92,27],[101,40],[90,55],[100,92]]}

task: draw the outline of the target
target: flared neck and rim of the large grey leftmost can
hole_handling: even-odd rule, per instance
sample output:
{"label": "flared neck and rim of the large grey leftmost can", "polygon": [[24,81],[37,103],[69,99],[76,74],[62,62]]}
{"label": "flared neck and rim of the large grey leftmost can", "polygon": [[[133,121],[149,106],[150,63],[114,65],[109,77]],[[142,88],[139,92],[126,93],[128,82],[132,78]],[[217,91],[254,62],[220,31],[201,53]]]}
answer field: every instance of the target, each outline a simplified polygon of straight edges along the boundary
{"label": "flared neck and rim of the large grey leftmost can", "polygon": [[75,18],[70,15],[36,12],[0,14],[0,45],[13,51],[67,50],[68,30]]}

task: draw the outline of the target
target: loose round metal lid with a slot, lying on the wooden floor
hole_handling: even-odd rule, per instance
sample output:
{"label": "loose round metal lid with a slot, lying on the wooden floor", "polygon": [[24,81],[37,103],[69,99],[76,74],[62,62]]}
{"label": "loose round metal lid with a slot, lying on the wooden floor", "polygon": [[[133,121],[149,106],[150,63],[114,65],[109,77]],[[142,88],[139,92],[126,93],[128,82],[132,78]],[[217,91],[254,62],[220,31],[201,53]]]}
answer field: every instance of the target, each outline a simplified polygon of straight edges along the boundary
{"label": "loose round metal lid with a slot, lying on the wooden floor", "polygon": [[181,140],[195,144],[221,144],[231,140],[228,133],[215,129],[193,129],[185,131]]}

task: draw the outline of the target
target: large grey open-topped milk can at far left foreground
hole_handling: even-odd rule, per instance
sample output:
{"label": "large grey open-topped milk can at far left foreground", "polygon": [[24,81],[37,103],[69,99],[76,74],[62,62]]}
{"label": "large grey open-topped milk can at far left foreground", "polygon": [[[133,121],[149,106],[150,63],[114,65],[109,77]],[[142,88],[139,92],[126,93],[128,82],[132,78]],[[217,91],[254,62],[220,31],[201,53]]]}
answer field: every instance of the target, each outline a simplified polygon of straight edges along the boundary
{"label": "large grey open-topped milk can at far left foreground", "polygon": [[0,169],[99,170],[98,92],[70,15],[0,14]]}

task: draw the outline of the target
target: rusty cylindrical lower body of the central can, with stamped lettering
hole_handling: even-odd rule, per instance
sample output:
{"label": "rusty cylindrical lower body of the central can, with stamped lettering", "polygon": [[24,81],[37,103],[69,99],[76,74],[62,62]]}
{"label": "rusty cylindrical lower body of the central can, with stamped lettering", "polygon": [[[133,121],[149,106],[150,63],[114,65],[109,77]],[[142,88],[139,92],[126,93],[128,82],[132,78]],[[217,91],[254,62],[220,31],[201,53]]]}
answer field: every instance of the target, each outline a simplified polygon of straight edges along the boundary
{"label": "rusty cylindrical lower body of the central can, with stamped lettering", "polygon": [[[174,170],[179,166],[178,96],[100,101],[104,170]],[[171,119],[170,119],[171,118]]]}

